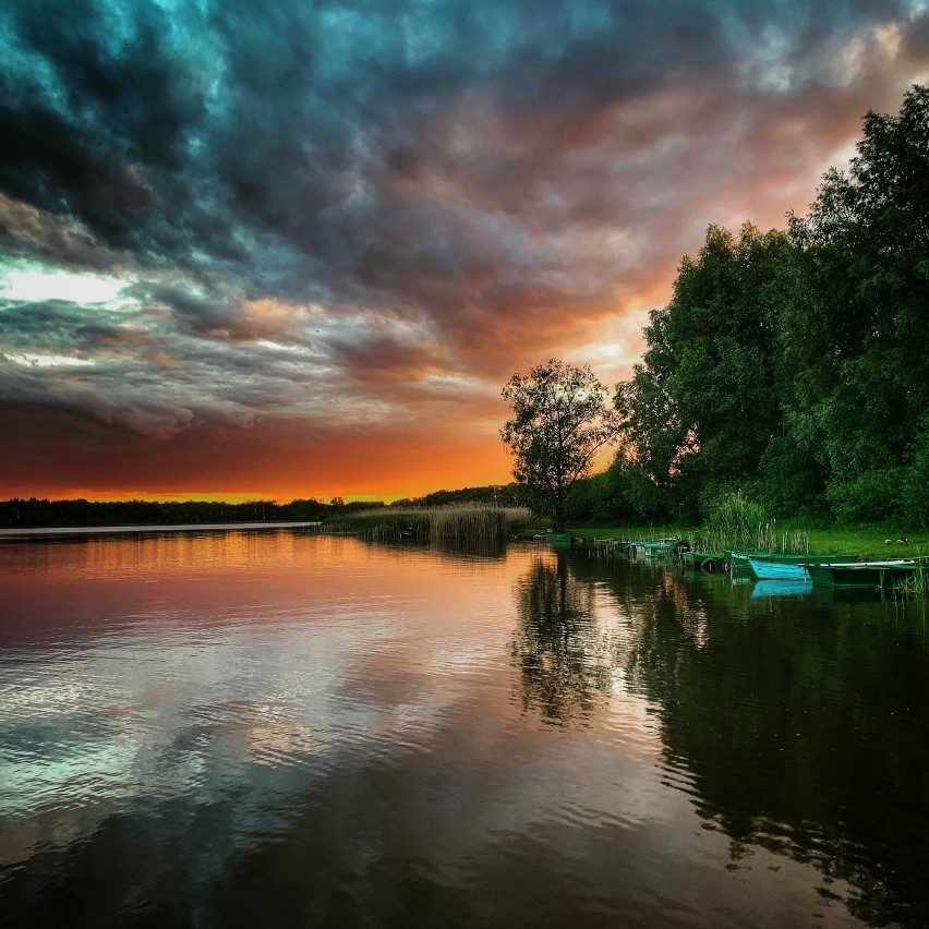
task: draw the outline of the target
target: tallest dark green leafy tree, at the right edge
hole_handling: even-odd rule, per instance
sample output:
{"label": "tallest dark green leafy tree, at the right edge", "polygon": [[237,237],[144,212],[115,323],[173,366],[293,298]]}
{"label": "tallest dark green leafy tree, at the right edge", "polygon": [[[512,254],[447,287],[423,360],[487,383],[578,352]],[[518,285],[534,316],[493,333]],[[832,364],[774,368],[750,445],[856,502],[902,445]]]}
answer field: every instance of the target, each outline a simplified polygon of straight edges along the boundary
{"label": "tallest dark green leafy tree, at the right edge", "polygon": [[[897,116],[865,117],[848,171],[824,176],[789,236],[791,431],[824,469],[836,515],[898,515],[929,456],[929,87],[914,86]],[[926,519],[918,508],[904,515]]]}

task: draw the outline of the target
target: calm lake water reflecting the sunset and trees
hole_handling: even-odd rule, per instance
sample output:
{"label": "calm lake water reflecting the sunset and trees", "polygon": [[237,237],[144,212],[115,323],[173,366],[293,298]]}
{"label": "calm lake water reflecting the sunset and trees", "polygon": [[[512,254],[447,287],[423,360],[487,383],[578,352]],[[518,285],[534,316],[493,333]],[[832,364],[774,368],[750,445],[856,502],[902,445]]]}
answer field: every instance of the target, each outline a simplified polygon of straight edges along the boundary
{"label": "calm lake water reflecting the sunset and trees", "polygon": [[3,541],[0,922],[929,925],[928,643],[530,545]]}

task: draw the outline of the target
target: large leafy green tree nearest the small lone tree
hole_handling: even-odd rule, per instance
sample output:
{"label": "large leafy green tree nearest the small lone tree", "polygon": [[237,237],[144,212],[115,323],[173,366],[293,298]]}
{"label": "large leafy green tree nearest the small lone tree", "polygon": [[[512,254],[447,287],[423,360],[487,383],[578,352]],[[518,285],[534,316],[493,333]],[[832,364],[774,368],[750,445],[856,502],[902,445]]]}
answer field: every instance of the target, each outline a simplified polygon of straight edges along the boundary
{"label": "large leafy green tree nearest the small lone tree", "polygon": [[638,467],[673,506],[696,510],[701,493],[753,480],[781,430],[779,268],[789,250],[783,232],[711,226],[681,261],[668,305],[651,313],[642,363],[616,406]]}

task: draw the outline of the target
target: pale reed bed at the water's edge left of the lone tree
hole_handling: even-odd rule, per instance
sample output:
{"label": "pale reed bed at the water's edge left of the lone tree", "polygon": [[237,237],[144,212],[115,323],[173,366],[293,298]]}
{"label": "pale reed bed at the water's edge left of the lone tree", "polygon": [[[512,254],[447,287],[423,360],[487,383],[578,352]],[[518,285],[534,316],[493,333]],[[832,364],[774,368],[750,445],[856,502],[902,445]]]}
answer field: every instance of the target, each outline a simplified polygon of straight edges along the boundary
{"label": "pale reed bed at the water's edge left of the lone tree", "polygon": [[529,510],[523,507],[453,504],[362,510],[334,520],[329,528],[379,542],[495,542],[508,539],[529,522]]}

